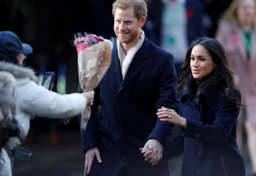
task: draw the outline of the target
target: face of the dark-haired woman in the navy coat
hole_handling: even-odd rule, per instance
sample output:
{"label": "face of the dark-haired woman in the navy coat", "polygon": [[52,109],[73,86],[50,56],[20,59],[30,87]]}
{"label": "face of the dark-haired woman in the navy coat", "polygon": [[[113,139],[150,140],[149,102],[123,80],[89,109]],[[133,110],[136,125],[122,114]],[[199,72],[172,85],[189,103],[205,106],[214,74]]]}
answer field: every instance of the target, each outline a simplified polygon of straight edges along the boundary
{"label": "face of the dark-haired woman in the navy coat", "polygon": [[207,49],[202,45],[192,48],[190,56],[190,68],[195,79],[202,79],[209,75],[215,67]]}

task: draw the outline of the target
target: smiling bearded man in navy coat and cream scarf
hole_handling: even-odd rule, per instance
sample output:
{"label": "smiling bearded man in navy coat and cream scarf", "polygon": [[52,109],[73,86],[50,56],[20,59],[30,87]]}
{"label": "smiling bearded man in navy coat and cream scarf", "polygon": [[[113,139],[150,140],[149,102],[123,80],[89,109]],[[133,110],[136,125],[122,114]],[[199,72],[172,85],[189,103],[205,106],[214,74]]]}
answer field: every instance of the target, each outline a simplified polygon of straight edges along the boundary
{"label": "smiling bearded man in navy coat and cream scarf", "polygon": [[[162,159],[173,125],[157,119],[157,109],[178,110],[174,58],[146,39],[143,0],[113,3],[111,66],[95,89],[91,118],[81,131],[85,174],[92,176],[169,176]],[[98,106],[101,105],[101,116]],[[149,163],[142,153],[152,149]]]}

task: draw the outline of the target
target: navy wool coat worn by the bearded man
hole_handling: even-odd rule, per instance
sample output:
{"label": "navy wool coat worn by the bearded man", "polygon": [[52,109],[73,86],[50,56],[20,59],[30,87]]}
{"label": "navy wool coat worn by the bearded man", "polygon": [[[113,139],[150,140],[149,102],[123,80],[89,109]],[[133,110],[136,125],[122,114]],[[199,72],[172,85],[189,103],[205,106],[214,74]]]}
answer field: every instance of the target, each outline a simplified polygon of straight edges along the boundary
{"label": "navy wool coat worn by the bearded man", "polygon": [[174,58],[145,38],[122,79],[116,40],[110,68],[95,89],[87,130],[81,131],[84,153],[96,146],[102,159],[100,164],[95,157],[89,175],[117,176],[126,165],[128,176],[169,176],[167,162],[151,166],[139,148],[148,139],[164,145],[172,130],[156,112],[161,106],[178,110]]}

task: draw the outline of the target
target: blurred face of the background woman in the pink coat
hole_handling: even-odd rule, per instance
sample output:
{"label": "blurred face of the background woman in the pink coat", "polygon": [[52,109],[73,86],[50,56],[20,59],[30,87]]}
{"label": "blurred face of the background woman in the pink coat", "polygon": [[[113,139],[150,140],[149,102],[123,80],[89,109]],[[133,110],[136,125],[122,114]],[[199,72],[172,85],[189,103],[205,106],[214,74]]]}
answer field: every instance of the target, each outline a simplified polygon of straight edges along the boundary
{"label": "blurred face of the background woman in the pink coat", "polygon": [[240,0],[237,9],[238,21],[243,25],[254,23],[256,17],[256,4],[254,0]]}

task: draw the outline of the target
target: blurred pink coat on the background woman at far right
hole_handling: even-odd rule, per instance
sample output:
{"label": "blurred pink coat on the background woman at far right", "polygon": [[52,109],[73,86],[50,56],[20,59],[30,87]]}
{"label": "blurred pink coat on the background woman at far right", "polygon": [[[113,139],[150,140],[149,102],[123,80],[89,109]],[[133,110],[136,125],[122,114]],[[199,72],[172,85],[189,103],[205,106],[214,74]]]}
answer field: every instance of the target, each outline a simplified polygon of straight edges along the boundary
{"label": "blurred pink coat on the background woman at far right", "polygon": [[221,22],[216,39],[223,45],[229,67],[235,73],[235,84],[242,94],[242,104],[247,106],[247,119],[256,125],[256,26],[249,59],[236,25]]}

